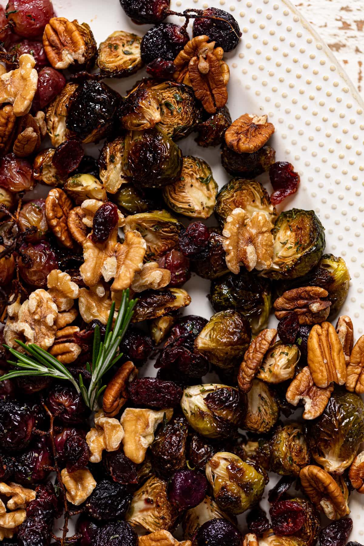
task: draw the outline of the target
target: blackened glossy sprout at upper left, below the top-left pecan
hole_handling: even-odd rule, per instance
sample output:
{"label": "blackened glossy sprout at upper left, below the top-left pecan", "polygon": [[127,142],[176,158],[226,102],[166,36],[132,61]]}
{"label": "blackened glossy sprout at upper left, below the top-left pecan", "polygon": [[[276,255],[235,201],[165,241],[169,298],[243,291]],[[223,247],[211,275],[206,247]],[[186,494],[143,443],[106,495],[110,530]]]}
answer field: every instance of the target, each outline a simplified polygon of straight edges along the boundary
{"label": "blackened glossy sprout at upper left, below the top-left pecan", "polygon": [[98,142],[111,132],[120,95],[100,81],[87,80],[71,96],[66,125],[84,143]]}

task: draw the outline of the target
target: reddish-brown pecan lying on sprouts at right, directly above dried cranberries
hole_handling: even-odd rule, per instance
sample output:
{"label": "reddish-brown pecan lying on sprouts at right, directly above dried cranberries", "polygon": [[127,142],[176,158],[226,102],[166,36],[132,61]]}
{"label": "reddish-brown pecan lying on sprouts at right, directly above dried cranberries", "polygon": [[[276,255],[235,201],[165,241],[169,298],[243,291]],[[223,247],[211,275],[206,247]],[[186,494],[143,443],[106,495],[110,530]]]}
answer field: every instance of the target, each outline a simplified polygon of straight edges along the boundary
{"label": "reddish-brown pecan lying on sprouts at right, directly above dried cranberries", "polygon": [[278,321],[290,313],[296,313],[300,324],[319,324],[325,321],[330,313],[331,301],[323,301],[329,293],[318,286],[293,288],[277,298],[274,307]]}

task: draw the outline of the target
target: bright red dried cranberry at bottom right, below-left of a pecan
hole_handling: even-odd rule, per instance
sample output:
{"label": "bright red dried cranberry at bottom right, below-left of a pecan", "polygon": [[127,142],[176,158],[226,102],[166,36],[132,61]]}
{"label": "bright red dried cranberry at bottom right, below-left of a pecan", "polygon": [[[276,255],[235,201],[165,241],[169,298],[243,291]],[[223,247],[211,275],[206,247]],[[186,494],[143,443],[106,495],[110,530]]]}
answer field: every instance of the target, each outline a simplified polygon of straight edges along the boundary
{"label": "bright red dried cranberry at bottom right, below-left of a pecan", "polygon": [[277,535],[294,535],[306,521],[305,511],[296,501],[278,501],[269,509],[272,529]]}

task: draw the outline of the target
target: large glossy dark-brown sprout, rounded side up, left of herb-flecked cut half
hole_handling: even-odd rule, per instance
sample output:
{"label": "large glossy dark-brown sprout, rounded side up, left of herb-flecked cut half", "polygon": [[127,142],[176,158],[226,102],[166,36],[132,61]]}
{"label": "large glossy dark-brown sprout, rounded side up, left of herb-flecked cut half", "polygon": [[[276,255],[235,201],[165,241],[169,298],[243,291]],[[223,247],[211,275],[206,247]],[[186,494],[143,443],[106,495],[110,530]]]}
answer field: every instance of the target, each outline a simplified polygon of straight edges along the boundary
{"label": "large glossy dark-brown sprout, rounded side up, left of herb-flecked cut half", "polygon": [[182,166],[181,150],[158,127],[127,133],[123,169],[141,186],[162,188],[171,184],[180,178]]}

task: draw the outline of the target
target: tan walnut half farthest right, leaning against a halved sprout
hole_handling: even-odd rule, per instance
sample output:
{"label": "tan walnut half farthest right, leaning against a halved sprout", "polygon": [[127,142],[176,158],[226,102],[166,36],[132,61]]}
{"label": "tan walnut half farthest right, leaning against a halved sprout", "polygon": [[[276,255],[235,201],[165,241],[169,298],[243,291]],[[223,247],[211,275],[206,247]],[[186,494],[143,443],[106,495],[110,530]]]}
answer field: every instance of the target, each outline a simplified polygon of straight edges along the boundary
{"label": "tan walnut half farthest right, leaning against a halved sprout", "polygon": [[254,268],[261,271],[272,265],[273,224],[264,212],[254,212],[244,225],[245,217],[243,209],[234,209],[223,229],[226,265],[236,275],[240,272],[240,263],[248,271]]}

